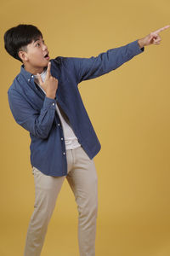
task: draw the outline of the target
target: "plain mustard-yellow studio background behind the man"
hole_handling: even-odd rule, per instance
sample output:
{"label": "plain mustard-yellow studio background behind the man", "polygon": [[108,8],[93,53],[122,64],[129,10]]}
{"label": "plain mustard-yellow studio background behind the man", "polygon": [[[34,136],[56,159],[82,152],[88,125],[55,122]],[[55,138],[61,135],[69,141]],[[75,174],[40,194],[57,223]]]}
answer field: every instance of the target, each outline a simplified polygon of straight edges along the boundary
{"label": "plain mustard-yellow studio background behind the man", "polygon": [[[20,61],[3,34],[20,23],[43,34],[50,57],[91,57],[170,23],[169,0],[1,0],[0,255],[23,255],[34,203],[30,137],[16,125],[7,90]],[[98,79],[80,84],[102,150],[96,256],[170,255],[170,29],[161,45]],[[64,183],[42,256],[77,256],[77,206]]]}

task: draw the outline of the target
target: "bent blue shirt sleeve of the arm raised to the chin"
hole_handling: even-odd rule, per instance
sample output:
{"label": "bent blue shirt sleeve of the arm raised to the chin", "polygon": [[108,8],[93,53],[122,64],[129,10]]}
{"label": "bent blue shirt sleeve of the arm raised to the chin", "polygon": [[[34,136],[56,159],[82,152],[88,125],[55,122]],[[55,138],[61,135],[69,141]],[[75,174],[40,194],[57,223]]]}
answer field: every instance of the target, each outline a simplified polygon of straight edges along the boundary
{"label": "bent blue shirt sleeve of the arm raised to the chin", "polygon": [[47,96],[42,109],[35,110],[17,90],[8,90],[8,102],[15,121],[36,137],[45,139],[54,122],[55,100]]}

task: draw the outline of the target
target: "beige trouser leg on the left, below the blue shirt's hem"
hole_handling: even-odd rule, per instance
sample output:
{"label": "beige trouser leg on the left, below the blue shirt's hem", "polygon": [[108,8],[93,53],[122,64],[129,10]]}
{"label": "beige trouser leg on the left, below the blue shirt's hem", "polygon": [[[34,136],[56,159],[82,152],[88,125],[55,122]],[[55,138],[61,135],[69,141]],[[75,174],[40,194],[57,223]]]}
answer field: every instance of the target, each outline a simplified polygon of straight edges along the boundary
{"label": "beige trouser leg on the left, below the blue shirt's hem", "polygon": [[33,167],[33,174],[36,196],[34,212],[27,231],[24,256],[39,256],[41,254],[48,222],[65,179],[65,177],[44,175],[35,167]]}

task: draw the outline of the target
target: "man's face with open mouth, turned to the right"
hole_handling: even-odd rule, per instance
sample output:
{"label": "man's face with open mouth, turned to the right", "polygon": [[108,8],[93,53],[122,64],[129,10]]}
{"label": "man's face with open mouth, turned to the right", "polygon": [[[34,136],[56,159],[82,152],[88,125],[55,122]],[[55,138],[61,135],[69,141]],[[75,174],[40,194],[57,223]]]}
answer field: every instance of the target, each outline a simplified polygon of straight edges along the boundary
{"label": "man's face with open mouth, turned to the right", "polygon": [[47,67],[49,62],[48,47],[42,37],[33,40],[26,46],[25,66],[31,69],[41,69]]}

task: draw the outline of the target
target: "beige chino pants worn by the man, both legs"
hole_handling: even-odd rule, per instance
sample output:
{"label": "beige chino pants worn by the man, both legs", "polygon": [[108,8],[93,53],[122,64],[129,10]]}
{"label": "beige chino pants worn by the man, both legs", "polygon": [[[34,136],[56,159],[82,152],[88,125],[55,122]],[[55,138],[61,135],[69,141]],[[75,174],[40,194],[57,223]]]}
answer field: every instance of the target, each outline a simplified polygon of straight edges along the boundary
{"label": "beige chino pants worn by the man, both legs", "polygon": [[[89,159],[82,147],[66,150],[66,158],[68,165],[66,179],[75,195],[79,213],[79,252],[81,256],[94,256],[98,210],[98,179],[94,160]],[[24,256],[41,254],[48,223],[65,180],[65,177],[44,175],[35,167],[32,172],[35,181],[35,205],[27,231]],[[57,256],[58,253],[54,252],[54,255]]]}

